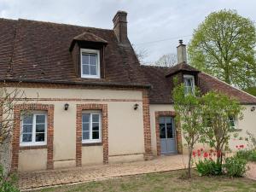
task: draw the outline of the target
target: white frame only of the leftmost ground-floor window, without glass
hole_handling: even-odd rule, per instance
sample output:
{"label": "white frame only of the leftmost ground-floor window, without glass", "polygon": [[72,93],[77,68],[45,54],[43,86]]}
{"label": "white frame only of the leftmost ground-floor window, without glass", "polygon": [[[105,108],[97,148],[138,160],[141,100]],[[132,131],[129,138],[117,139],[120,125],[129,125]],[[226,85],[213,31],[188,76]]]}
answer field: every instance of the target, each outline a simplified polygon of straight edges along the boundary
{"label": "white frame only of the leftmost ground-floor window, without glass", "polygon": [[[33,115],[33,121],[32,121],[32,142],[22,142],[23,138],[23,118],[24,116],[21,116],[21,122],[20,122],[20,146],[41,146],[41,145],[47,145],[47,113],[32,113]],[[44,127],[44,142],[36,142],[36,116],[37,115],[44,115],[45,116],[45,127]]]}

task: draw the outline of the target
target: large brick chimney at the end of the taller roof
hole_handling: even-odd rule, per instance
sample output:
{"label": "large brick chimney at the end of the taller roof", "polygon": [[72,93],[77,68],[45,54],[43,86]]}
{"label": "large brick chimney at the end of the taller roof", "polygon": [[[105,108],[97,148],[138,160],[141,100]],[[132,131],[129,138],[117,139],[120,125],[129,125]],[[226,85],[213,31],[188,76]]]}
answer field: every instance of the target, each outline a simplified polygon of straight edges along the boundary
{"label": "large brick chimney at the end of the taller roof", "polygon": [[119,44],[128,44],[127,37],[127,13],[118,11],[113,17],[113,32],[119,40]]}

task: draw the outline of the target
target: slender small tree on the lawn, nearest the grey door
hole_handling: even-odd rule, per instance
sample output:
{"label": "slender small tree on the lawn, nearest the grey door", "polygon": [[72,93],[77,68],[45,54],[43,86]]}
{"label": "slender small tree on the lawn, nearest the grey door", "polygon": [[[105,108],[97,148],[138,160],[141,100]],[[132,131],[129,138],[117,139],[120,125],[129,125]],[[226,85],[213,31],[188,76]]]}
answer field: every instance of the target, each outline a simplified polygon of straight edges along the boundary
{"label": "slender small tree on the lawn, nearest the grey door", "polygon": [[201,97],[200,91],[185,95],[184,85],[180,84],[173,90],[174,108],[177,113],[176,122],[181,125],[183,137],[189,149],[188,177],[191,177],[192,152],[195,143],[201,137]]}

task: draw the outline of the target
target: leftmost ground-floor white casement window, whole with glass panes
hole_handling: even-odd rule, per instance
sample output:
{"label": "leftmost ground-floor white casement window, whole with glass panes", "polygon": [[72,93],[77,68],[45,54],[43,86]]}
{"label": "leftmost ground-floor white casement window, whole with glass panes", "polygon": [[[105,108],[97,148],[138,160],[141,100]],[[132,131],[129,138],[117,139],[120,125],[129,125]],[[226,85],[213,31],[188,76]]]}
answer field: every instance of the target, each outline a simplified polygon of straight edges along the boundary
{"label": "leftmost ground-floor white casement window, whole with glass panes", "polygon": [[21,116],[20,146],[46,145],[47,114],[31,113]]}

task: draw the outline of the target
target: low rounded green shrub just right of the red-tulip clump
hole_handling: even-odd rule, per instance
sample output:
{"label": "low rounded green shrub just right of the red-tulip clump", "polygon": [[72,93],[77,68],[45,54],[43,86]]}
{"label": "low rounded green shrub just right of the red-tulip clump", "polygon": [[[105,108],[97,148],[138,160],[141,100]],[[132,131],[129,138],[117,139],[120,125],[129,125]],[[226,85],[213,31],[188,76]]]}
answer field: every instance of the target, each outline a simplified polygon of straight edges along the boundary
{"label": "low rounded green shrub just right of the red-tulip clump", "polygon": [[247,160],[237,156],[229,157],[225,160],[224,172],[230,177],[242,177],[247,171]]}

